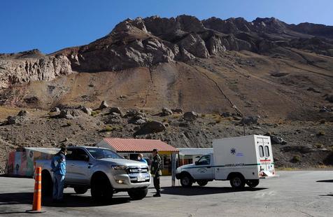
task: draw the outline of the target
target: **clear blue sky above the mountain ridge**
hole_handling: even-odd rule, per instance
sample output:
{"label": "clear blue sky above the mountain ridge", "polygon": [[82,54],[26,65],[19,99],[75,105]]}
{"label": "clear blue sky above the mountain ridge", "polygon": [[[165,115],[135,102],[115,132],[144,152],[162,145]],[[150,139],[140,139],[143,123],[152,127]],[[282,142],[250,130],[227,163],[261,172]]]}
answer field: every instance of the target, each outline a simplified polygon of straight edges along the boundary
{"label": "clear blue sky above the mountain ridge", "polygon": [[8,0],[0,1],[0,53],[50,53],[108,34],[126,18],[194,15],[227,19],[275,17],[287,23],[333,25],[332,0]]}

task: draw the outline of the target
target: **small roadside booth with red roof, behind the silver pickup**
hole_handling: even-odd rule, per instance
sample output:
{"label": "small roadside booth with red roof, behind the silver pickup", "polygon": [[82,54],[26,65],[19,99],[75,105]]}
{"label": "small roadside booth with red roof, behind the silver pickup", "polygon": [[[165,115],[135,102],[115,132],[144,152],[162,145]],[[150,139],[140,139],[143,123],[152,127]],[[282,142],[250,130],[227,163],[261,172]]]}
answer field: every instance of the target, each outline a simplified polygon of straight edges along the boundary
{"label": "small roadside booth with red roof, behind the silver pickup", "polygon": [[[179,152],[177,148],[159,139],[105,138],[96,146],[111,149],[118,153],[118,155],[129,160],[137,160],[138,154],[141,153],[143,154],[143,158],[147,160],[149,166],[153,160],[153,149],[157,148],[162,158],[162,175],[172,174],[172,161],[176,164],[176,155]],[[176,167],[176,165],[174,167]]]}

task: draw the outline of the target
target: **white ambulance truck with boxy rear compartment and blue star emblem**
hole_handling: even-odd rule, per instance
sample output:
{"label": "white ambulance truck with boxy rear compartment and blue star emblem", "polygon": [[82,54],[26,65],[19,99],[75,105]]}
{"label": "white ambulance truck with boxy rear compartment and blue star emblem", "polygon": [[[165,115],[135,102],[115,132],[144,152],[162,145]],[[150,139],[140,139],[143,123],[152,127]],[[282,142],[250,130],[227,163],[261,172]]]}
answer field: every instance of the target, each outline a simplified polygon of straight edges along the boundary
{"label": "white ambulance truck with boxy rear compartment and blue star emblem", "polygon": [[213,140],[213,154],[202,156],[193,165],[178,167],[176,179],[183,187],[194,182],[229,180],[233,188],[245,184],[254,188],[259,179],[276,177],[271,138],[260,135]]}

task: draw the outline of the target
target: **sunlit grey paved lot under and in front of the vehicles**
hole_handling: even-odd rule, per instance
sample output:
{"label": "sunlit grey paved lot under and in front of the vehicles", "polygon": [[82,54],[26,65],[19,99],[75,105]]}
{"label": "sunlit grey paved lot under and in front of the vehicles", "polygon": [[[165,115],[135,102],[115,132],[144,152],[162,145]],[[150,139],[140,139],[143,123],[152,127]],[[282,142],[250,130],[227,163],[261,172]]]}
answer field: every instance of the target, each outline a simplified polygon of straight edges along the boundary
{"label": "sunlit grey paved lot under and in front of the vehicles", "polygon": [[[171,178],[162,177],[163,195],[129,200],[115,195],[108,205],[93,204],[90,192],[75,195],[65,190],[62,207],[43,201],[41,216],[333,216],[333,171],[280,172],[280,178],[261,181],[251,190],[233,191],[227,181],[206,187],[171,188]],[[178,183],[177,183],[178,184]],[[0,215],[29,216],[34,180],[0,177]],[[157,213],[159,213],[157,215]]]}

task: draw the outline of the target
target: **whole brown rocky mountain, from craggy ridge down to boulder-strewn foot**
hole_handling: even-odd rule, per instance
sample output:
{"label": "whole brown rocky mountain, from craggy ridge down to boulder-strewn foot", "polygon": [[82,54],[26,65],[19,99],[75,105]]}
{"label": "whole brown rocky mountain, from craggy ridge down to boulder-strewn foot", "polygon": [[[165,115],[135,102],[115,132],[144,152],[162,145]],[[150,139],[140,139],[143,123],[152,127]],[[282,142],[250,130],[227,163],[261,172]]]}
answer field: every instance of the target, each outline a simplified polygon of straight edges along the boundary
{"label": "whole brown rocky mountain, from craggy ridge down to boulder-strewn foot", "polygon": [[[276,137],[280,166],[332,165],[332,71],[330,26],[276,18],[127,19],[88,45],[0,55],[0,148],[103,137],[208,147],[212,139],[243,134],[246,123],[246,134]],[[104,100],[112,111],[100,108]]]}

